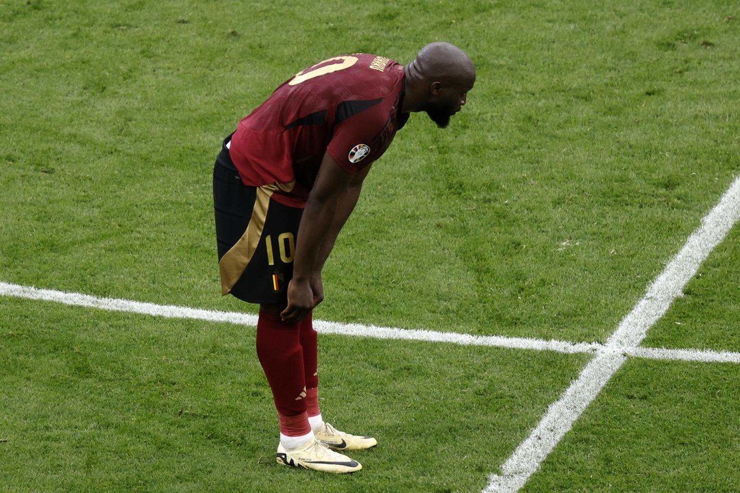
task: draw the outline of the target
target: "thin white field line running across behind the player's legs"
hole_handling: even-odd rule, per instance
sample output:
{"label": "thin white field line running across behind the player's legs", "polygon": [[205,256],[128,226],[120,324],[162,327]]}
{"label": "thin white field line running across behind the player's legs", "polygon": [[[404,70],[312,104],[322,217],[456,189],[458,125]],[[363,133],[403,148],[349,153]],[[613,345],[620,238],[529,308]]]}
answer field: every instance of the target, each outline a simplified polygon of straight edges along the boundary
{"label": "thin white field line running across behind the player's legs", "polygon": [[[63,305],[97,308],[140,315],[161,316],[169,319],[195,319],[205,322],[223,322],[228,324],[255,327],[257,316],[251,313],[224,312],[203,310],[199,308],[176,305],[155,305],[154,303],[135,302],[128,299],[100,298],[81,293],[32,288],[0,282],[0,296],[22,299],[55,302]],[[432,330],[409,330],[396,327],[377,327],[376,325],[340,324],[314,320],[314,327],[320,333],[340,336],[369,337],[371,339],[400,339],[406,341],[441,342],[460,344],[462,346],[488,346],[505,349],[523,349],[536,351],[554,351],[565,354],[596,354],[604,351],[606,346],[598,342],[569,342],[544,339],[527,339],[504,336],[471,336],[454,332],[434,332]],[[713,350],[677,350],[650,347],[611,348],[612,352],[624,356],[674,361],[703,361],[707,363],[724,362],[740,363],[740,353]]]}

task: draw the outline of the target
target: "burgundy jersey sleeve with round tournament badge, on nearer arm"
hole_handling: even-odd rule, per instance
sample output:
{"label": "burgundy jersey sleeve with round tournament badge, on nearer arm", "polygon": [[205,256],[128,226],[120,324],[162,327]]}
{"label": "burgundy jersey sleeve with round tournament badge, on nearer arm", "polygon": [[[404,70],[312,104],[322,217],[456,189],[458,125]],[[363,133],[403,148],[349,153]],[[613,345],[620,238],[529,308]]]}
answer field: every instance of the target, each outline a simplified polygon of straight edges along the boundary
{"label": "burgundy jersey sleeve with round tournament badge, on nearer arm", "polygon": [[388,123],[388,111],[383,106],[372,106],[334,127],[326,152],[348,173],[357,174],[382,154],[380,149],[373,148],[377,147],[378,136]]}

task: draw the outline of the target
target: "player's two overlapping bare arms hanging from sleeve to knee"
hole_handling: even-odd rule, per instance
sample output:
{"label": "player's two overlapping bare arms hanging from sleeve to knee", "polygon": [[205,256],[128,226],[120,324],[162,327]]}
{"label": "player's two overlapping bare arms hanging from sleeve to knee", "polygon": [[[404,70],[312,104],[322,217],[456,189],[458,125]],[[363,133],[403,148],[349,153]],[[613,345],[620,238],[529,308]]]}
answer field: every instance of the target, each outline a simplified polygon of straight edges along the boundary
{"label": "player's two overlapping bare arms hanging from sleeve to knee", "polygon": [[305,318],[323,300],[321,268],[357,203],[368,171],[349,174],[324,154],[298,228],[288,306],[280,313],[286,322]]}

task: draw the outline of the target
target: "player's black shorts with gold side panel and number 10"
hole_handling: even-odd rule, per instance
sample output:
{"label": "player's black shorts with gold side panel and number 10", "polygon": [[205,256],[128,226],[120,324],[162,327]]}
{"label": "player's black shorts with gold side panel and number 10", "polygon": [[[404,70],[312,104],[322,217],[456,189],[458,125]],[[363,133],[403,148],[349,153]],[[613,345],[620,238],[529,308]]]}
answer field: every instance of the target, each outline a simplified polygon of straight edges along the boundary
{"label": "player's black shorts with gold side panel and number 10", "polygon": [[229,139],[213,167],[221,293],[285,304],[303,209],[272,200],[274,187],[244,185],[226,149]]}

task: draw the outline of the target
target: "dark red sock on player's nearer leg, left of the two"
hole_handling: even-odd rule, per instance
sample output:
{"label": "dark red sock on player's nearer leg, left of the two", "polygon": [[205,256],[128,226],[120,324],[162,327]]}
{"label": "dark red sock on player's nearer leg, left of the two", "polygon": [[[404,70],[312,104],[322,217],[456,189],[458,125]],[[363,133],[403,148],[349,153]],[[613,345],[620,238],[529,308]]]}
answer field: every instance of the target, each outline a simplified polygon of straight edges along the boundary
{"label": "dark red sock on player's nearer leg, left of the two", "polygon": [[311,432],[306,415],[306,378],[299,324],[289,324],[279,313],[260,310],[257,356],[272,389],[280,432],[287,436]]}

